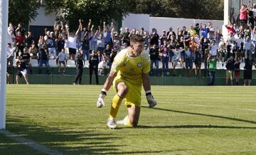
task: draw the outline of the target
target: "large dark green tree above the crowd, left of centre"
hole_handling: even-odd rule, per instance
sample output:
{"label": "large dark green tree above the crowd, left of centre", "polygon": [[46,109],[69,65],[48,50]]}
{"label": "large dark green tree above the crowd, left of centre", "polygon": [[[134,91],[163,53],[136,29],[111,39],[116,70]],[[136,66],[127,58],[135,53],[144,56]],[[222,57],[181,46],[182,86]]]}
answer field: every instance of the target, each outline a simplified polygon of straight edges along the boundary
{"label": "large dark green tree above the crowd, left of centre", "polygon": [[95,27],[102,26],[103,21],[120,21],[128,14],[129,4],[132,0],[51,0],[46,1],[46,10],[62,14],[59,20],[73,23],[70,29],[74,31],[78,28],[79,19],[87,22],[91,18]]}

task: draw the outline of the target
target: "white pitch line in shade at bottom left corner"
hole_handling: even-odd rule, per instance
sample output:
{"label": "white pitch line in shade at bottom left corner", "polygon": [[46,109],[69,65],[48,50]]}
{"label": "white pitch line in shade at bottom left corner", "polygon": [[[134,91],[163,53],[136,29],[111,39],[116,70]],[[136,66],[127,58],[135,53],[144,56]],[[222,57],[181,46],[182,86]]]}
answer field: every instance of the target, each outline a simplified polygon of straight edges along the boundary
{"label": "white pitch line in shade at bottom left corner", "polygon": [[63,153],[60,153],[59,151],[56,151],[54,149],[50,149],[46,146],[38,144],[35,141],[31,141],[29,139],[19,137],[17,134],[13,134],[6,130],[0,130],[0,134],[4,134],[4,136],[9,137],[10,139],[12,139],[14,141],[18,141],[19,143],[21,143],[23,145],[29,146],[29,147],[36,149],[38,151],[41,151],[45,154],[53,154],[53,155],[63,154]]}

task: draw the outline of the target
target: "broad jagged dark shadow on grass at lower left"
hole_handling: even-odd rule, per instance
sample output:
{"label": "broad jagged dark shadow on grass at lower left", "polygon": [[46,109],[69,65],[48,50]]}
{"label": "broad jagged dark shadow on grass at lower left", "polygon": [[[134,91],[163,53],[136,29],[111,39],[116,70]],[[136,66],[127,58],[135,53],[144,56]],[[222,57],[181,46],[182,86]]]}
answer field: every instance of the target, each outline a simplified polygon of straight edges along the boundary
{"label": "broad jagged dark shadow on grass at lower left", "polygon": [[[164,150],[164,151],[125,151],[126,145],[113,144],[112,141],[122,139],[112,132],[97,132],[94,128],[90,129],[63,129],[44,127],[36,122],[28,121],[27,117],[8,117],[6,129],[20,137],[31,139],[55,149],[63,154],[163,154],[171,151],[183,150]],[[70,122],[69,127],[74,125]],[[107,129],[107,128],[106,128]],[[18,151],[22,151],[19,149]],[[6,152],[7,153],[7,152]],[[1,154],[1,153],[0,153]],[[33,152],[31,153],[33,154]]]}

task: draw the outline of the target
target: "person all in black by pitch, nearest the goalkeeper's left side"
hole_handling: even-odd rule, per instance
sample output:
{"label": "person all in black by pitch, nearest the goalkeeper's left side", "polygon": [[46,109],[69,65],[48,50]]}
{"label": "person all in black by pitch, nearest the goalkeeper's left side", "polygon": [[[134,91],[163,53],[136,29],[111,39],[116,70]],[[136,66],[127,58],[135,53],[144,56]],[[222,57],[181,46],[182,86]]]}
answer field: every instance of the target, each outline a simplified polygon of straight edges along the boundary
{"label": "person all in black by pitch, nearest the goalkeeper's left side", "polygon": [[99,77],[98,77],[98,64],[99,59],[97,58],[97,53],[95,50],[92,50],[92,54],[89,59],[89,68],[90,68],[90,85],[92,85],[92,74],[95,73],[96,84],[99,85]]}

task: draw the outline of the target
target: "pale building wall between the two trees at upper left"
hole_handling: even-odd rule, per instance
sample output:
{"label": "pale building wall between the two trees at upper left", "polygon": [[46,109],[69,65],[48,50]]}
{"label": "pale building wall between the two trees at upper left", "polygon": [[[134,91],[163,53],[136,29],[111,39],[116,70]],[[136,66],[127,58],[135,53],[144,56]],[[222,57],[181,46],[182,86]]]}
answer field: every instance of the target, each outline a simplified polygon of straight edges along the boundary
{"label": "pale building wall between the two trees at upper left", "polygon": [[41,6],[38,9],[38,16],[35,20],[29,22],[29,26],[53,26],[56,15],[54,13],[46,14],[45,7]]}

